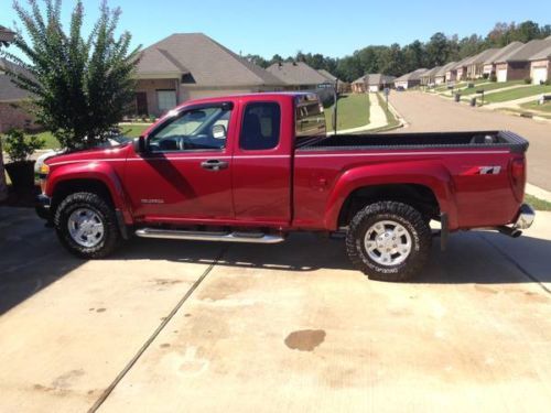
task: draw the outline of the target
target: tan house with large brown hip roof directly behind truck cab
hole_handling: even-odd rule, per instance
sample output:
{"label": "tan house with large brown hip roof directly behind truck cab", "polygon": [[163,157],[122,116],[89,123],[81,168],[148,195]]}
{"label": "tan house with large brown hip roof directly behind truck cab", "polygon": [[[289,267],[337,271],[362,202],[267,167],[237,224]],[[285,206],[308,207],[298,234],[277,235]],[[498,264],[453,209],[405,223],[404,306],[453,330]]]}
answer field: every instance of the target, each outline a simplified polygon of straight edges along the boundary
{"label": "tan house with large brown hip roof directly behind truck cab", "polygon": [[281,79],[203,33],[179,33],[143,50],[136,112],[161,116],[188,99],[281,90]]}

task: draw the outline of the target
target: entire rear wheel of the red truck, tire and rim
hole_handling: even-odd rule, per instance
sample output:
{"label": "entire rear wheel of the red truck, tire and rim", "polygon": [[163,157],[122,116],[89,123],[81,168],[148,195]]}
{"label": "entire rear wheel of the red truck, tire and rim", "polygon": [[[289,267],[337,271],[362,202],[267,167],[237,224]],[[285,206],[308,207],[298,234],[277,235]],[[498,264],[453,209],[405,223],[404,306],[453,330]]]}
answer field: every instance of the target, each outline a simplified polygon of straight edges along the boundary
{"label": "entire rear wheel of the red truck, tire and rim", "polygon": [[432,235],[413,207],[398,202],[368,205],[353,218],[346,251],[370,280],[406,281],[429,259]]}

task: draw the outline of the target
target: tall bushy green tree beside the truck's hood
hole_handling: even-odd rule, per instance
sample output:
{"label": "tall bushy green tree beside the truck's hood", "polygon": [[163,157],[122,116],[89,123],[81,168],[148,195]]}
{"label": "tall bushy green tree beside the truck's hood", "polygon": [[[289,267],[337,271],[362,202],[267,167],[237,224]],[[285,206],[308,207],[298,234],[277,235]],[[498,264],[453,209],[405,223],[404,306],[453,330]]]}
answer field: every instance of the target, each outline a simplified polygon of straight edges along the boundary
{"label": "tall bushy green tree beside the truck's hood", "polygon": [[4,53],[23,68],[10,75],[34,95],[37,122],[63,146],[95,145],[117,127],[134,99],[138,48],[130,51],[129,32],[116,36],[120,9],[109,9],[104,0],[94,29],[83,37],[80,0],[67,31],[61,21],[61,0],[42,0],[42,8],[37,0],[26,2],[29,9],[13,3],[26,34],[18,29],[13,45],[26,59]]}

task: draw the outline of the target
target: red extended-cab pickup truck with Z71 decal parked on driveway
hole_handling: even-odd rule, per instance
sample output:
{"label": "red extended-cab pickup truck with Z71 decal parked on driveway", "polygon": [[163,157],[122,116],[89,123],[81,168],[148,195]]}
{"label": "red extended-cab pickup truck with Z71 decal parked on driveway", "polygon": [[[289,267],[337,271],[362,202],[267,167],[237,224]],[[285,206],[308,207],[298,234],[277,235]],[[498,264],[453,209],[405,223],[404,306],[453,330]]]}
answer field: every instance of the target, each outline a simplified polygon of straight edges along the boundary
{"label": "red extended-cab pickup truck with Z71 decal parked on driveway", "polygon": [[[369,278],[407,280],[433,231],[520,235],[528,142],[511,132],[327,135],[307,93],[186,102],[133,143],[48,159],[37,213],[84,258],[144,238],[274,243],[341,232]],[[298,252],[300,253],[300,252]]]}

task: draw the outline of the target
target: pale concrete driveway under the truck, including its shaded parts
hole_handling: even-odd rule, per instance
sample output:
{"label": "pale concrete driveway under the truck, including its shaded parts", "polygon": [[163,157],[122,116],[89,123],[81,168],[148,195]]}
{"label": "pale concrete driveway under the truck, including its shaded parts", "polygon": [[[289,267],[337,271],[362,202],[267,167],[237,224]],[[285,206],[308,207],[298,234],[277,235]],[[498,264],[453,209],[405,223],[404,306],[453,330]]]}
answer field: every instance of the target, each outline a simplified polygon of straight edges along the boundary
{"label": "pale concrete driveway under the truck, including its shaded parts", "polygon": [[134,240],[104,261],[0,208],[0,411],[547,411],[551,214],[436,242],[412,283],[343,243]]}

